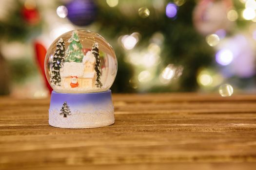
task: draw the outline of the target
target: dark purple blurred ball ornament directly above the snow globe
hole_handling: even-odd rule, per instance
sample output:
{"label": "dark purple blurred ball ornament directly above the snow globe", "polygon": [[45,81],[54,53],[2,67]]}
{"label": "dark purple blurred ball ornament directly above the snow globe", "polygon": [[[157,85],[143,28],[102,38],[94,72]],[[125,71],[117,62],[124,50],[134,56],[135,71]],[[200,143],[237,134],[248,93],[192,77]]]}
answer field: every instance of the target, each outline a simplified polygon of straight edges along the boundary
{"label": "dark purple blurred ball ornament directly above the snow globe", "polygon": [[75,25],[86,26],[96,18],[97,6],[93,0],[73,0],[66,7],[68,19]]}

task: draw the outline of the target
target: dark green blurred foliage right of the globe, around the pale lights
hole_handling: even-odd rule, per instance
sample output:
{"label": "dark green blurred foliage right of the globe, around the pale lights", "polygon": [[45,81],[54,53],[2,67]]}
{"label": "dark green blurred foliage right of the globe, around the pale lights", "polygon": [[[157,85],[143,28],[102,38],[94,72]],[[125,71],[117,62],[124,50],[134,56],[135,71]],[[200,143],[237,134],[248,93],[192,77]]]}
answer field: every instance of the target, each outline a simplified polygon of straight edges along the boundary
{"label": "dark green blurred foliage right of the globe, around the pale lights", "polygon": [[[194,28],[192,16],[196,2],[187,0],[185,4],[179,7],[175,19],[166,17],[165,12],[158,13],[150,1],[145,2],[150,10],[150,16],[147,18],[138,16],[138,8],[135,7],[134,2],[119,2],[126,3],[126,6],[130,7],[131,15],[119,11],[118,8],[108,8],[104,7],[104,4],[98,3],[100,6],[97,19],[97,22],[100,23],[98,24],[98,32],[113,45],[118,57],[118,74],[112,87],[113,91],[134,91],[132,85],[129,84],[129,80],[137,79],[138,75],[133,75],[134,69],[124,62],[125,53],[122,52],[122,47],[117,44],[119,36],[134,32],[141,34],[141,39],[135,47],[137,50],[147,47],[152,35],[156,32],[161,33],[164,37],[161,44],[161,53],[159,54],[161,62],[158,65],[156,79],[168,64],[184,67],[183,74],[178,81],[166,86],[153,86],[148,90],[149,92],[196,90],[198,87],[198,69],[211,65],[214,55],[214,50],[205,43],[205,37],[197,33]],[[165,5],[168,2],[166,0]],[[105,29],[106,25],[108,26],[107,30]]]}

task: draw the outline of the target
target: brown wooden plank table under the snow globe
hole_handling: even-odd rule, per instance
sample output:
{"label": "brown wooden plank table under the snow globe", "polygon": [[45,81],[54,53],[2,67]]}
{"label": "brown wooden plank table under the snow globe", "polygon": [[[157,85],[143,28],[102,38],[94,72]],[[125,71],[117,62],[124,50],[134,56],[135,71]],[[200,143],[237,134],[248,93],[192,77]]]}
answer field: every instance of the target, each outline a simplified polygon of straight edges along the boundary
{"label": "brown wooden plank table under the snow globe", "polygon": [[256,170],[256,95],[113,95],[116,123],[48,125],[49,99],[0,98],[0,169]]}

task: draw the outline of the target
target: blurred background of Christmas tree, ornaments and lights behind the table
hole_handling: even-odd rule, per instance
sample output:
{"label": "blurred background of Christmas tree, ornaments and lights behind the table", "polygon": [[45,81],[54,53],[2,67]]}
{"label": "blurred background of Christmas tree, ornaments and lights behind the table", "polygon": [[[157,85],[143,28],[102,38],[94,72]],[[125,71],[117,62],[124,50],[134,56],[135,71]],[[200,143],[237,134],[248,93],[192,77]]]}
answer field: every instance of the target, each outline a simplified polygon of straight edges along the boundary
{"label": "blurred background of Christmas tree, ornaments and lights behind the table", "polygon": [[255,0],[0,0],[0,95],[49,96],[46,50],[74,29],[113,46],[113,92],[256,92]]}

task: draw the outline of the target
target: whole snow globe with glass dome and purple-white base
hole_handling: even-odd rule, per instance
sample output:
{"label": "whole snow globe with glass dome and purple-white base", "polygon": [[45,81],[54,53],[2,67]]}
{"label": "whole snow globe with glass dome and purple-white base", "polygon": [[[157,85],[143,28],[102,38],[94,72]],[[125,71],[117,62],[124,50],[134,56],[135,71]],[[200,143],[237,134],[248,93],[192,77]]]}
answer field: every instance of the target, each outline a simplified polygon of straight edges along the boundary
{"label": "whole snow globe with glass dome and purple-white base", "polygon": [[109,88],[117,68],[113,48],[99,34],[75,30],[60,35],[45,57],[45,74],[53,88],[49,124],[77,129],[113,124]]}

